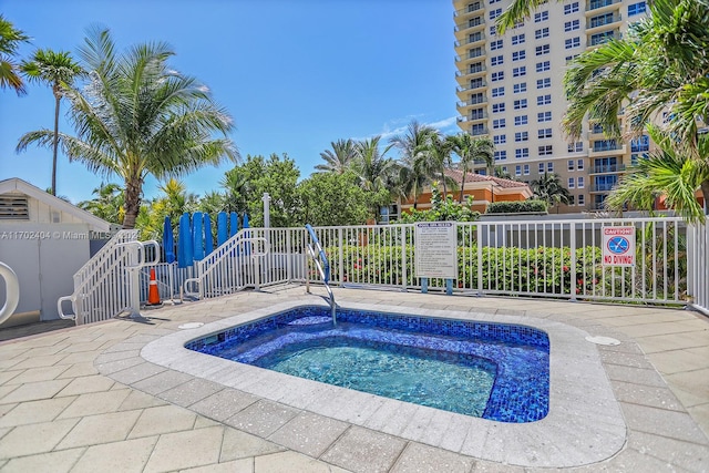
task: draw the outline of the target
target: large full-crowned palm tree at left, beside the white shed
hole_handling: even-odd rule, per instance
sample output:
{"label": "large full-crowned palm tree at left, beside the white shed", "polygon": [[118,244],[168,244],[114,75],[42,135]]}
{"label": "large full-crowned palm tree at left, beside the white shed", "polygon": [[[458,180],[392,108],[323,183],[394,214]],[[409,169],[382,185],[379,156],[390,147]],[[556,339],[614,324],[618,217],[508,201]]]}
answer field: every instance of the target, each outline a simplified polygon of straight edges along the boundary
{"label": "large full-crowned palm tree at left, beside the white shed", "polygon": [[[89,33],[80,49],[89,73],[83,90],[66,89],[76,136],[60,133],[70,160],[90,171],[117,174],[125,182],[124,228],[133,228],[141,208],[143,183],[181,176],[238,152],[226,136],[232,119],[196,79],[174,71],[174,52],[164,43],[145,43],[116,54],[109,30]],[[224,136],[215,138],[213,133]],[[53,142],[49,130],[24,134],[18,151]]]}

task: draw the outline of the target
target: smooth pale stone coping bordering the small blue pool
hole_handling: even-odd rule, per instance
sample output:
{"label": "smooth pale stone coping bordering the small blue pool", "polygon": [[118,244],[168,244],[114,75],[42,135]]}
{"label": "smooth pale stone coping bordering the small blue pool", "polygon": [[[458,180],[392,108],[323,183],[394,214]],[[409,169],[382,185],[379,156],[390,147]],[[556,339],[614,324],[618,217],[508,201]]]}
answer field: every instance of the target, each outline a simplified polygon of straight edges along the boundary
{"label": "smooth pale stone coping bordering the small blue pool", "polygon": [[148,362],[289,408],[483,460],[520,466],[569,467],[607,460],[627,429],[600,354],[588,333],[569,325],[515,315],[342,302],[341,307],[434,318],[517,323],[548,333],[549,413],[531,423],[502,423],[352,391],[236,363],[184,348],[191,340],[322,300],[291,300],[183,330],[147,343]]}

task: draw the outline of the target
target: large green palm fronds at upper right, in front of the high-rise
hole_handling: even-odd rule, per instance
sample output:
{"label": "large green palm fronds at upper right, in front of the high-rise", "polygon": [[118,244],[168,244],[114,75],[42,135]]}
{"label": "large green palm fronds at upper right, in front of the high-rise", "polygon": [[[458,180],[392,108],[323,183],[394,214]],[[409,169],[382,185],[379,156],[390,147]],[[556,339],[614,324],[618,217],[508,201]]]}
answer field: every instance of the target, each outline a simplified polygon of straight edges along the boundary
{"label": "large green palm fronds at upper right, in front of the high-rise", "polygon": [[[672,137],[664,140],[665,153],[682,154],[697,167],[707,167],[709,150],[699,141],[709,125],[709,0],[655,0],[648,9],[648,17],[631,24],[621,40],[610,40],[571,63],[564,76],[569,107],[563,125],[573,140],[588,116],[609,137],[618,137],[624,134],[617,116],[625,113],[630,127],[626,136],[656,123]],[[709,178],[698,188],[709,202]],[[692,207],[690,202],[678,204],[678,209]],[[695,218],[691,212],[686,217]]]}

